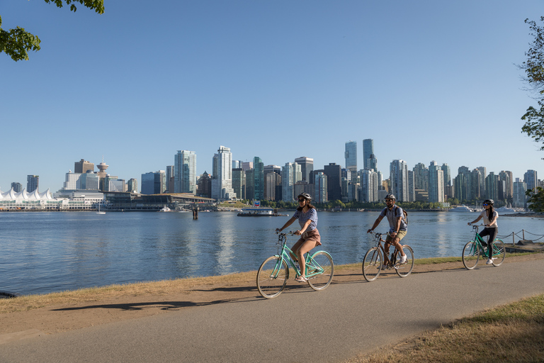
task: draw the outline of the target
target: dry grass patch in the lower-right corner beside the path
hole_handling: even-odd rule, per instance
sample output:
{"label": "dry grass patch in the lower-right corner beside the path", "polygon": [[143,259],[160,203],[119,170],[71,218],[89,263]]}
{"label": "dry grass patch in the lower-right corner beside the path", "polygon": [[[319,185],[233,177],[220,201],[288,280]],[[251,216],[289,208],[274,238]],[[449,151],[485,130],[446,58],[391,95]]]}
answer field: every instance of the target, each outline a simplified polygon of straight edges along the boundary
{"label": "dry grass patch in the lower-right corner beside the path", "polygon": [[544,295],[477,313],[348,362],[544,362]]}

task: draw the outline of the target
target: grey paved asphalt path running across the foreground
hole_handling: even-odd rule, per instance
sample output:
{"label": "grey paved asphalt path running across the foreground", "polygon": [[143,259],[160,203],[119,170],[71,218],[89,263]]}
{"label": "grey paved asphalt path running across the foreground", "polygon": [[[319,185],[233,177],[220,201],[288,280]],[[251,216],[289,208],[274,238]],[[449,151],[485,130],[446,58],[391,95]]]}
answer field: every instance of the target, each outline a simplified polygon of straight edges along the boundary
{"label": "grey paved asphalt path running across the foreground", "polygon": [[[480,262],[481,263],[481,262]],[[544,260],[307,285],[0,345],[0,362],[343,362],[544,293]],[[39,328],[39,327],[37,327]]]}

